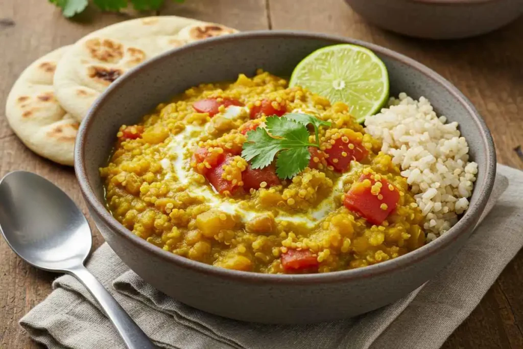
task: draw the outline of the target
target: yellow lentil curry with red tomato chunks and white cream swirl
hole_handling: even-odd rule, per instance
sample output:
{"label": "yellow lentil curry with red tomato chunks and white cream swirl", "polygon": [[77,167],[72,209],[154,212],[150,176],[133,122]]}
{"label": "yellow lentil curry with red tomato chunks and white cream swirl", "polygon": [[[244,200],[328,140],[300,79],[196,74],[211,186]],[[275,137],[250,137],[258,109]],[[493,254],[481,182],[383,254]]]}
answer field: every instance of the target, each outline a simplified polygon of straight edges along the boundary
{"label": "yellow lentil curry with red tomato chunks and white cream swirl", "polygon": [[[123,125],[100,169],[112,215],[166,251],[259,273],[340,271],[422,246],[424,217],[381,143],[347,105],[287,86],[266,72],[240,74],[189,88]],[[308,126],[318,147],[305,150],[301,172],[281,178],[276,161],[254,168],[242,147],[289,112],[329,126],[317,138]]]}

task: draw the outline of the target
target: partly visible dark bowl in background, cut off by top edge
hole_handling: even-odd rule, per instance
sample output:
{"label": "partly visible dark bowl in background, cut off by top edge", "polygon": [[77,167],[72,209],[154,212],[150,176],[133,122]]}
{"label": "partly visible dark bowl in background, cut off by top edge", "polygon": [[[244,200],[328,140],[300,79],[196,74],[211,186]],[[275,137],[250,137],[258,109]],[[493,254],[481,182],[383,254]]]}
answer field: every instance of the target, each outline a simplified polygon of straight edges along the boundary
{"label": "partly visible dark bowl in background, cut off by top edge", "polygon": [[345,0],[372,24],[427,39],[459,39],[503,27],[523,13],[521,0]]}

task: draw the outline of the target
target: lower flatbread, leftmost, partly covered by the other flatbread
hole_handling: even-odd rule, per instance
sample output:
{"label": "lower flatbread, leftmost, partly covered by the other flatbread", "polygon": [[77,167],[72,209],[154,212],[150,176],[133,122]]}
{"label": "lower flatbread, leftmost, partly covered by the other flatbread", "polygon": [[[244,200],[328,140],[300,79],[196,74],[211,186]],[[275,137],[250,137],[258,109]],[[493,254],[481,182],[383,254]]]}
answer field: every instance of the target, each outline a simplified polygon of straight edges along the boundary
{"label": "lower flatbread, leftmost, partly covered by the other flatbread", "polygon": [[9,125],[29,149],[72,166],[79,123],[60,107],[53,94],[56,64],[70,48],[56,49],[31,63],[13,85],[5,113]]}

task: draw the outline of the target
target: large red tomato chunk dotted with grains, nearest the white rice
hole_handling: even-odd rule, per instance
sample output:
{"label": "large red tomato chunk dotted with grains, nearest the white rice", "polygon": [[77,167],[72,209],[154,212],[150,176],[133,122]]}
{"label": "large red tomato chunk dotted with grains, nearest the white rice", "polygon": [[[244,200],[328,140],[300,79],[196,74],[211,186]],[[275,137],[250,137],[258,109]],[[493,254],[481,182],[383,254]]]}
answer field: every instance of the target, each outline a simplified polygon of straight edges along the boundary
{"label": "large red tomato chunk dotted with grains, nearest the white rice", "polygon": [[[349,210],[359,212],[370,223],[381,224],[396,209],[400,192],[385,178],[376,181],[374,176],[377,175],[362,175],[345,194],[343,203]],[[366,179],[369,179],[370,185],[363,182]],[[381,188],[374,195],[371,188],[378,182],[381,183]]]}

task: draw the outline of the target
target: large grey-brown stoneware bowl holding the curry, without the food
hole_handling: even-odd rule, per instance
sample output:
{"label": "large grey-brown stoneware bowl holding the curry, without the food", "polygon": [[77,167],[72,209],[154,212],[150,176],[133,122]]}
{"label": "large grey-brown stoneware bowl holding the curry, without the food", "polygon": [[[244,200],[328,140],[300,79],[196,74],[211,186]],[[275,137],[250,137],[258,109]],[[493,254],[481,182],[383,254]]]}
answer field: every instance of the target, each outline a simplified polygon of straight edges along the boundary
{"label": "large grey-brown stoneware bowl holding the curry, without the food", "polygon": [[[98,168],[106,164],[122,124],[132,125],[157,104],[200,83],[233,81],[257,68],[289,76],[306,55],[324,46],[355,43],[386,64],[391,94],[425,96],[458,121],[479,164],[470,208],[441,238],[394,260],[343,272],[269,275],[188,260],[124,228],[104,205]],[[258,31],[203,40],[166,52],[118,78],[82,123],[75,170],[90,213],[105,240],[135,273],[189,306],[227,318],[308,323],[353,317],[405,297],[445,266],[467,241],[494,183],[494,144],[477,111],[456,87],[426,66],[367,42],[304,32]]]}

